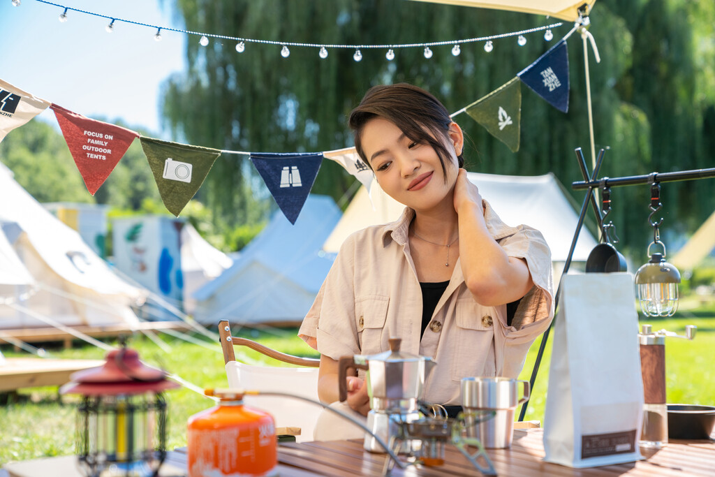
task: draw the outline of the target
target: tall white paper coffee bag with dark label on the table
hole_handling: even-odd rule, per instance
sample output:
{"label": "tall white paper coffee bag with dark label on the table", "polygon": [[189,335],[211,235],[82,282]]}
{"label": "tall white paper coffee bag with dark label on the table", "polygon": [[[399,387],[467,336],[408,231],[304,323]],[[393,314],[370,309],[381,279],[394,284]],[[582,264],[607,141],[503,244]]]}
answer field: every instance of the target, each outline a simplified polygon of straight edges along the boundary
{"label": "tall white paper coffee bag with dark label on the table", "polygon": [[596,467],[642,459],[643,380],[629,273],[561,277],[544,415],[544,460]]}

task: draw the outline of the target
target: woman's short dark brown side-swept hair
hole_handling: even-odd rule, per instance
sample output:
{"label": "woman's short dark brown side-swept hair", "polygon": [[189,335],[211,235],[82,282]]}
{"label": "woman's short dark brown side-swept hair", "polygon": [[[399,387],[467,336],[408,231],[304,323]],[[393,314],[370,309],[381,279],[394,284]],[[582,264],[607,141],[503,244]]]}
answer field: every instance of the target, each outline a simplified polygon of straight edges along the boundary
{"label": "woman's short dark brown side-swept hair", "polygon": [[[392,122],[412,141],[430,144],[440,158],[446,180],[445,160],[449,159],[450,154],[440,138],[448,137],[452,118],[437,98],[424,89],[407,83],[383,84],[368,89],[358,107],[350,113],[347,124],[355,133],[355,149],[360,159],[370,169],[373,166],[365,157],[362,139],[365,124],[374,117],[382,117]],[[462,154],[459,154],[457,161],[459,167],[463,167]]]}

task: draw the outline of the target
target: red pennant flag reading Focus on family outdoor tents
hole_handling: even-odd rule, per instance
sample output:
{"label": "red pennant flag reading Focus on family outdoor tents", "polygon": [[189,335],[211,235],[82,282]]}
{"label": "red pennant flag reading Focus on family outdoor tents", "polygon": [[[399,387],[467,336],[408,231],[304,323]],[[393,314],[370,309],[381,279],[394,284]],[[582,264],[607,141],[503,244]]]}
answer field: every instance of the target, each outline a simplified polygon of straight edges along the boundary
{"label": "red pennant flag reading Focus on family outdoor tents", "polygon": [[84,185],[94,195],[109,174],[112,174],[134,138],[139,137],[139,133],[89,119],[56,104],[50,107],[62,129],[74,163],[82,174]]}

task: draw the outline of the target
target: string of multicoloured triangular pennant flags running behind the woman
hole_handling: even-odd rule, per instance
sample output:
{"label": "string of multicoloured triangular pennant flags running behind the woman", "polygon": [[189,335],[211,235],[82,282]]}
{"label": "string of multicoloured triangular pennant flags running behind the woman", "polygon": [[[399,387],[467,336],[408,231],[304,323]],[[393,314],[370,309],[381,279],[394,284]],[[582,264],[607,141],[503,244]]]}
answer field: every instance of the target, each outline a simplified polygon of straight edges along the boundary
{"label": "string of multicoloured triangular pennant flags running behind the woman", "polygon": [[[568,49],[566,38],[578,24],[516,77],[451,116],[466,112],[490,134],[518,151],[521,130],[521,85],[526,84],[562,112],[568,111]],[[593,39],[591,39],[593,43]],[[595,49],[595,44],[593,45]],[[34,97],[0,79],[0,141],[12,129],[53,109],[67,147],[87,190],[94,195],[139,137],[152,169],[159,195],[167,210],[179,216],[196,195],[216,159],[222,153],[249,155],[285,217],[293,224],[310,194],[322,158],[331,159],[356,177],[370,192],[372,169],[358,157],[355,147],[327,152],[255,153],[222,151],[142,137],[139,133],[90,119]]]}

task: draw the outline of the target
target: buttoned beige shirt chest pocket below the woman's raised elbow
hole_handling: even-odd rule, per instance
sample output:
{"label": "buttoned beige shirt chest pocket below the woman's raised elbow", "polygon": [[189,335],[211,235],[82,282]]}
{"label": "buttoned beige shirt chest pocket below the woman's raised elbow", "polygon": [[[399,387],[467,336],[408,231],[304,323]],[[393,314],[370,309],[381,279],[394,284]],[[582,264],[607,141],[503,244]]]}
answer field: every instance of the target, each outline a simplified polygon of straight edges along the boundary
{"label": "buttoned beige shirt chest pocket below the woman's raised elbow", "polygon": [[471,298],[458,300],[453,330],[455,346],[451,366],[452,380],[495,375],[494,322],[496,319],[493,307],[482,306]]}

